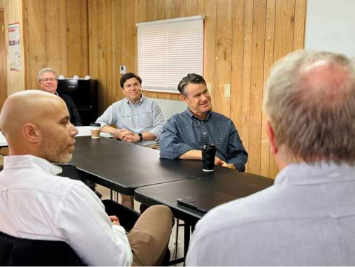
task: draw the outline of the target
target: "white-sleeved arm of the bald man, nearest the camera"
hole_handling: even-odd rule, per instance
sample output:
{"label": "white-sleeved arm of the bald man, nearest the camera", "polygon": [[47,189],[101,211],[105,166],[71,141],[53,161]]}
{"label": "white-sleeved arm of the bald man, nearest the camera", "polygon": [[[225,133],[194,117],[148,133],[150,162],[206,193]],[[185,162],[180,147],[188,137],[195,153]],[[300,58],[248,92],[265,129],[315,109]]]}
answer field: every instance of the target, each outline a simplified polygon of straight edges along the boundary
{"label": "white-sleeved arm of the bald man, nearest the camera", "polygon": [[55,226],[78,256],[94,266],[131,266],[133,256],[126,231],[113,226],[91,189],[77,184],[64,196],[58,204]]}

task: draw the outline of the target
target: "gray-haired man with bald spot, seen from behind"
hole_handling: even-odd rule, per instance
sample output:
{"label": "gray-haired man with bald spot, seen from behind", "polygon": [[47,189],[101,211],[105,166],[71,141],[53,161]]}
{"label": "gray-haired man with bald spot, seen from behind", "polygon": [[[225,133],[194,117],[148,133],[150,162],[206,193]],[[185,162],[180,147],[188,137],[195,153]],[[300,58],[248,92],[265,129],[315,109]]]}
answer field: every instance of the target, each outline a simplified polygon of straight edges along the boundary
{"label": "gray-haired man with bald spot, seen from behind", "polygon": [[355,266],[354,62],[293,52],[263,101],[275,185],[203,216],[186,266]]}

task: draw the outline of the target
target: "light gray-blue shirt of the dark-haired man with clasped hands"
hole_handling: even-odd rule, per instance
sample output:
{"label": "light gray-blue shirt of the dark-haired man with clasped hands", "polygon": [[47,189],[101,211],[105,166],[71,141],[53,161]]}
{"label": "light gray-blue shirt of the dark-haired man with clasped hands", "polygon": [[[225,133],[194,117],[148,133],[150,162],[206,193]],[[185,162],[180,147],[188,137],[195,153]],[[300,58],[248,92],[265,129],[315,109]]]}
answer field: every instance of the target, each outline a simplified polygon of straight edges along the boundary
{"label": "light gray-blue shirt of the dark-haired man with clasped hands", "polygon": [[96,122],[99,122],[101,127],[116,124],[117,129],[127,129],[133,133],[149,131],[157,136],[155,140],[143,140],[136,143],[145,146],[158,143],[166,118],[157,101],[142,95],[137,103],[128,99],[113,103]]}

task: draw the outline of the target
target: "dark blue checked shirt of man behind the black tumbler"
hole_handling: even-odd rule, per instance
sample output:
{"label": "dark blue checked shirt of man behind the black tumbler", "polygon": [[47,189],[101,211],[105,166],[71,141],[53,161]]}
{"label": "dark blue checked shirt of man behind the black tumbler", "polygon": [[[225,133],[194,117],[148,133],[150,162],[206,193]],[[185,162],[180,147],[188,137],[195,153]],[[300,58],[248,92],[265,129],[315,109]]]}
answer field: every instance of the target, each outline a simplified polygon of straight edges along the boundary
{"label": "dark blue checked shirt of man behind the black tumbler", "polygon": [[175,114],[163,127],[160,157],[178,159],[189,150],[201,150],[202,144],[214,144],[216,156],[245,171],[248,154],[233,122],[222,114],[210,111],[205,120],[198,120],[187,108]]}

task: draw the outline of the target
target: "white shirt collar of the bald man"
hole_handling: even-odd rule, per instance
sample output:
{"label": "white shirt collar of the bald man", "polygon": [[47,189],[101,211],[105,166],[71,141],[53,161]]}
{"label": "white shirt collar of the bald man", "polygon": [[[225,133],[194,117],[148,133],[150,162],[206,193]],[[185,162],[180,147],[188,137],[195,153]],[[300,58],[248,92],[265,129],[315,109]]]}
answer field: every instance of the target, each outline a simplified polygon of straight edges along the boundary
{"label": "white shirt collar of the bald man", "polygon": [[38,168],[52,175],[57,175],[62,171],[59,166],[55,166],[45,159],[32,155],[4,157],[3,169],[6,170],[8,168]]}

